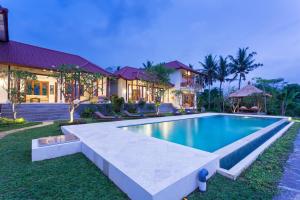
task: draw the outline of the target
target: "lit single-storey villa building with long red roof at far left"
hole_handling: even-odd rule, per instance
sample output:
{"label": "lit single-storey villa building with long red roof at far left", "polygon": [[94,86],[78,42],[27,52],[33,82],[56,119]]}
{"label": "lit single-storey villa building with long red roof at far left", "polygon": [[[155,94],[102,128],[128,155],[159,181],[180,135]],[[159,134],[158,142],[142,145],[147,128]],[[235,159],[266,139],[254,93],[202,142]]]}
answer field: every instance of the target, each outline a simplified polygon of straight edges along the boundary
{"label": "lit single-storey villa building with long red roof at far left", "polygon": [[[61,92],[62,86],[53,74],[60,65],[75,65],[81,70],[90,73],[100,73],[100,80],[95,80],[93,96],[109,97],[109,72],[103,70],[92,62],[73,54],[68,54],[51,49],[28,45],[9,39],[8,10],[0,7],[0,69],[8,73],[0,76],[0,103],[6,103],[9,99],[7,90],[11,87],[11,71],[22,70],[36,74],[37,80],[26,83],[26,98],[24,103],[64,103]],[[84,85],[72,85],[72,95],[84,100],[87,94],[80,89]]]}

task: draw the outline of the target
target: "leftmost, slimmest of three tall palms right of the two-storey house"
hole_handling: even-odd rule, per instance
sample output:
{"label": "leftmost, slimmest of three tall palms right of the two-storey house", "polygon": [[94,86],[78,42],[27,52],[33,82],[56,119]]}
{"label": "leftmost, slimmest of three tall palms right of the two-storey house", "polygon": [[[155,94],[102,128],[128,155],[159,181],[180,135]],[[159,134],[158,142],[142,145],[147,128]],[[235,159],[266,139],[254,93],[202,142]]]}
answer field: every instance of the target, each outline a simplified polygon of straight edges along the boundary
{"label": "leftmost, slimmest of three tall palms right of the two-storey house", "polygon": [[[219,63],[216,69],[216,79],[220,82],[219,92],[220,92],[220,99],[222,100],[222,111],[224,112],[224,96],[222,91],[222,85],[225,81],[227,81],[227,77],[230,74],[229,65],[227,63],[227,57],[223,58],[222,56],[219,57]],[[221,111],[221,108],[220,108]]]}

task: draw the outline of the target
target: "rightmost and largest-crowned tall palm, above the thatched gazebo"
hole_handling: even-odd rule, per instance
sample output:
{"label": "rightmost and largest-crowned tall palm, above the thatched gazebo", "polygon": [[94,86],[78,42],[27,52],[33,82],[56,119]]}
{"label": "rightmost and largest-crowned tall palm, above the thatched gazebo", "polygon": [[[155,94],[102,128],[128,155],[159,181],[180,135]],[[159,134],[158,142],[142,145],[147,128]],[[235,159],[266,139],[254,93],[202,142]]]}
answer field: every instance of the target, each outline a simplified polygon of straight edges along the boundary
{"label": "rightmost and largest-crowned tall palm, above the thatched gazebo", "polygon": [[236,58],[228,56],[230,59],[231,74],[234,74],[232,80],[239,80],[239,89],[241,89],[242,80],[246,80],[246,74],[256,69],[257,67],[263,66],[261,63],[255,63],[254,56],[256,52],[248,53],[249,47],[239,48]]}

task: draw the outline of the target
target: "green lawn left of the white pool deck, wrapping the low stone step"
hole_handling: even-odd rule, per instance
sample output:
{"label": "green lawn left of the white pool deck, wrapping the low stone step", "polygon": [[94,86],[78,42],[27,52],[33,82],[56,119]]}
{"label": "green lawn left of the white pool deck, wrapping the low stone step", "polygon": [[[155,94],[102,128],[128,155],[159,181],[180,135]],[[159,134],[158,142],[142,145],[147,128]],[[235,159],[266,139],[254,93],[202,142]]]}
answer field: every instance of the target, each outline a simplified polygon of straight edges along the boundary
{"label": "green lawn left of the white pool deck, wrapping the low stone step", "polygon": [[31,140],[59,135],[58,125],[0,140],[0,199],[127,199],[82,154],[31,162]]}

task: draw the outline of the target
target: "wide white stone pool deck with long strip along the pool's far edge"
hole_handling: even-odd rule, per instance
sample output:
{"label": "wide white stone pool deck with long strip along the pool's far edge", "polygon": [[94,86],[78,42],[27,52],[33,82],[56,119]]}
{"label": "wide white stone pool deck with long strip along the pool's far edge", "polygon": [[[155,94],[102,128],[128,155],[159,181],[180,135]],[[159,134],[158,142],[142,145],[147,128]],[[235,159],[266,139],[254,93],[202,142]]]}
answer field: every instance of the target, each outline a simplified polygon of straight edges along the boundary
{"label": "wide white stone pool deck with long strip along the pool's far edge", "polygon": [[209,177],[216,172],[218,155],[117,127],[187,117],[195,115],[66,126],[62,130],[76,135],[82,152],[131,199],[181,199],[197,188],[202,168],[209,171]]}

